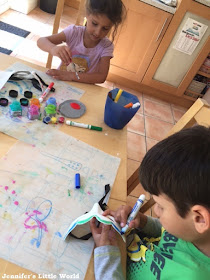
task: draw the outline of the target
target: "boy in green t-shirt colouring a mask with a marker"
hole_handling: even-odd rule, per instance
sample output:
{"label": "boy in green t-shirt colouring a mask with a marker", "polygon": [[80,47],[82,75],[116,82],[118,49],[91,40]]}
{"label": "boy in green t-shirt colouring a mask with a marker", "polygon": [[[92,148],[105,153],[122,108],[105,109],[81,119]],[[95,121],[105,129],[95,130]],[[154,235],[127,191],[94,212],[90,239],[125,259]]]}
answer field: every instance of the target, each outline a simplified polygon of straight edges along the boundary
{"label": "boy in green t-shirt colouring a mask with a marker", "polygon": [[[127,236],[127,279],[210,279],[210,128],[195,126],[162,140],[139,169],[159,218],[140,213]],[[131,211],[106,210],[123,227]],[[91,221],[96,279],[124,279],[115,234]],[[133,240],[130,241],[131,236]]]}

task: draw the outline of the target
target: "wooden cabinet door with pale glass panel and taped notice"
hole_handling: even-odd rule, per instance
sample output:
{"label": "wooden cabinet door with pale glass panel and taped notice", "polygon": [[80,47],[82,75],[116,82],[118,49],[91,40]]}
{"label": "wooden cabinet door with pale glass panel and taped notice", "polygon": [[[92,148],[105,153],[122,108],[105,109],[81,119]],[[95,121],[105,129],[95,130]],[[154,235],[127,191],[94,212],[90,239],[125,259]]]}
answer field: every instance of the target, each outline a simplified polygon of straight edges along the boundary
{"label": "wooden cabinet door with pale glass panel and taped notice", "polygon": [[[189,18],[208,26],[191,55],[174,49],[176,40]],[[196,100],[196,95],[189,96],[186,94],[186,90],[209,54],[209,35],[210,8],[195,1],[182,1],[145,73],[142,84],[167,94],[180,96],[192,101]]]}

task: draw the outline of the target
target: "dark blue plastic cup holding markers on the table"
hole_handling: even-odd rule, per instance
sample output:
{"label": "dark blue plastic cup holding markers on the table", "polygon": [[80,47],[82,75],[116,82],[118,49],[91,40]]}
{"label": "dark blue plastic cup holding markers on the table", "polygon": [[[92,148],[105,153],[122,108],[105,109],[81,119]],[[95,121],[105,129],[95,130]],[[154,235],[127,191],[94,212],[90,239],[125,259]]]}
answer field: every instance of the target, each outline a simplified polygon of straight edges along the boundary
{"label": "dark blue plastic cup holding markers on the table", "polygon": [[122,92],[118,102],[115,103],[114,99],[118,91],[119,88],[115,88],[108,93],[104,109],[104,122],[114,129],[122,129],[140,108],[140,105],[136,108],[124,107],[128,103],[136,104],[139,102],[135,95],[126,91]]}

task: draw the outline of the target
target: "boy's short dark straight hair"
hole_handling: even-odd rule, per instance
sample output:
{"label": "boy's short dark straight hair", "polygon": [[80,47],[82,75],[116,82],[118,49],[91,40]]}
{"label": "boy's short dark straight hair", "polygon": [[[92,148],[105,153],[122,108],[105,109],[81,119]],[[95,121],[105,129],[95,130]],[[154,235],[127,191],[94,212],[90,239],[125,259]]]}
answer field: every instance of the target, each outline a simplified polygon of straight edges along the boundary
{"label": "boy's short dark straight hair", "polygon": [[165,194],[185,217],[193,205],[210,208],[210,128],[183,129],[153,146],[139,169],[143,188]]}

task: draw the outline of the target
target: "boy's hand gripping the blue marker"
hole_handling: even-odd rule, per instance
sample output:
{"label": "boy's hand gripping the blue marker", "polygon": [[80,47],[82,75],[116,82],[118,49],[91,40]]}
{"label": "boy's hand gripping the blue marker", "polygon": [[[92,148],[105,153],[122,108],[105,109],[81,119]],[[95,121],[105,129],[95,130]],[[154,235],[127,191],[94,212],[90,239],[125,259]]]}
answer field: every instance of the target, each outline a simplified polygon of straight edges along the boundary
{"label": "boy's hand gripping the blue marker", "polygon": [[[103,215],[111,215],[115,218],[115,221],[120,224],[121,227],[124,227],[127,223],[129,214],[131,213],[132,208],[128,205],[120,206],[117,211],[112,211],[110,209],[104,211]],[[129,223],[129,228],[143,228],[146,224],[147,218],[144,214],[138,213],[136,218]]]}

